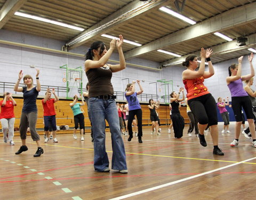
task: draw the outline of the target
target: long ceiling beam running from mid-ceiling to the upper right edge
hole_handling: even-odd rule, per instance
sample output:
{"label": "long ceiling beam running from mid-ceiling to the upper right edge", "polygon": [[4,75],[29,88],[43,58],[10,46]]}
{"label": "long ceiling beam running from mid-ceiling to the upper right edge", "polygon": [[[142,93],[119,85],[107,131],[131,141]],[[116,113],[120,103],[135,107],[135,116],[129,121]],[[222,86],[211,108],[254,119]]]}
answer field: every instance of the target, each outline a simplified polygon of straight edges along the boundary
{"label": "long ceiling beam running from mid-ceiling to the upper right edge", "polygon": [[[160,11],[159,11],[160,12]],[[139,55],[162,49],[178,43],[186,43],[191,39],[213,34],[231,27],[240,26],[256,20],[256,2],[236,7],[210,19],[196,23],[173,34],[156,39],[153,42],[137,47],[124,53],[125,59],[138,57]]]}

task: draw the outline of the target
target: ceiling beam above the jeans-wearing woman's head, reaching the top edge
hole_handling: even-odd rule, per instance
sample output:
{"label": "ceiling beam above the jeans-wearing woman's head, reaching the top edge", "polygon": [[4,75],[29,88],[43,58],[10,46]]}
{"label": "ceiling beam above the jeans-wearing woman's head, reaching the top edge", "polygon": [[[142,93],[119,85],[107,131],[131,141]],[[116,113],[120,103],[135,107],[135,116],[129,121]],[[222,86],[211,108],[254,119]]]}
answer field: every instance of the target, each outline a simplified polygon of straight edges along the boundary
{"label": "ceiling beam above the jeans-wearing woman's head, reaching the top edge", "polygon": [[166,5],[166,2],[169,1],[170,0],[151,0],[147,3],[132,1],[109,15],[107,18],[83,31],[83,33],[77,35],[73,39],[70,39],[70,41],[66,43],[66,46],[68,46],[68,50],[74,49],[75,47],[86,43],[89,39],[93,39],[94,37],[108,33],[110,30],[116,29],[118,26],[123,25],[124,22],[127,23],[128,20],[132,20],[138,15],[146,14],[155,7]]}

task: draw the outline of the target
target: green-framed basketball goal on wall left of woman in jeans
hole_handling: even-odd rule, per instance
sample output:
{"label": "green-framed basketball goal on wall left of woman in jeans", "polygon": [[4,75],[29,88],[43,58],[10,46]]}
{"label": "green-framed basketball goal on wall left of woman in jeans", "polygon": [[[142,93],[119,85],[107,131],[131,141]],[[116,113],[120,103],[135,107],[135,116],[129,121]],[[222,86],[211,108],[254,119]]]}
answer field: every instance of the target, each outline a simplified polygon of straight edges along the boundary
{"label": "green-framed basketball goal on wall left of woman in jeans", "polygon": [[69,68],[68,65],[60,66],[62,69],[66,69],[66,87],[67,87],[67,99],[73,99],[74,95],[82,94],[83,91],[83,69],[82,67]]}

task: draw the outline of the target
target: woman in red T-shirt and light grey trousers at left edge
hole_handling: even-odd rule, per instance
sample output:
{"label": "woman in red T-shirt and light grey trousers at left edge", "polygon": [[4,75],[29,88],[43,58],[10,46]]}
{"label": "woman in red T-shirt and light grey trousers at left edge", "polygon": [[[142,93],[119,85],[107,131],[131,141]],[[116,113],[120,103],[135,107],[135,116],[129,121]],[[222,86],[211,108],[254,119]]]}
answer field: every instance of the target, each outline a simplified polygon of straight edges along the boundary
{"label": "woman in red T-shirt and light grey trousers at left edge", "polygon": [[14,145],[12,141],[14,135],[14,106],[17,106],[15,100],[12,98],[12,94],[9,92],[4,93],[4,100],[0,101],[1,106],[1,114],[0,121],[2,124],[3,134],[4,134],[4,142],[7,143],[7,131],[8,132],[8,141],[10,141],[10,145]]}

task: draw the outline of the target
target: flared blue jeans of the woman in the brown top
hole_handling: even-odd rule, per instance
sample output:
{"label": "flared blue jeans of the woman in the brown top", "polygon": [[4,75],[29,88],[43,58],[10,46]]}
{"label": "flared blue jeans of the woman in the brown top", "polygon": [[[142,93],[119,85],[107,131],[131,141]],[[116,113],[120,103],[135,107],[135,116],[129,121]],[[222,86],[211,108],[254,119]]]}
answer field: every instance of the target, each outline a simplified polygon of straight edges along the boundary
{"label": "flared blue jeans of the woman in the brown top", "polygon": [[105,119],[107,119],[113,149],[112,169],[127,170],[124,142],[121,137],[115,100],[93,97],[89,99],[89,104],[94,138],[94,169],[102,172],[109,167],[108,154],[105,147]]}

